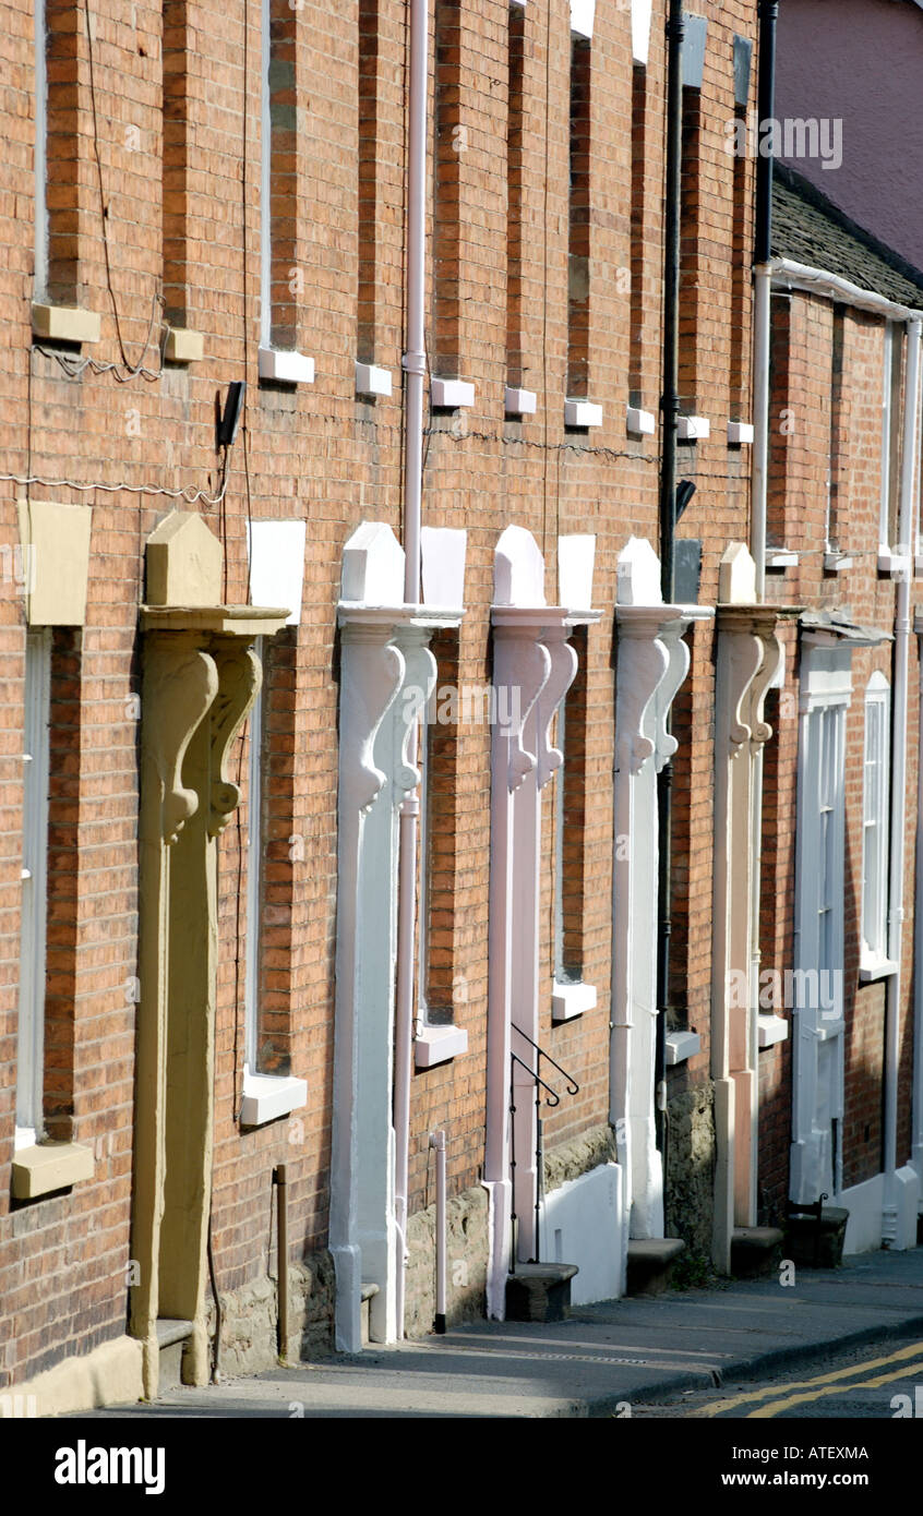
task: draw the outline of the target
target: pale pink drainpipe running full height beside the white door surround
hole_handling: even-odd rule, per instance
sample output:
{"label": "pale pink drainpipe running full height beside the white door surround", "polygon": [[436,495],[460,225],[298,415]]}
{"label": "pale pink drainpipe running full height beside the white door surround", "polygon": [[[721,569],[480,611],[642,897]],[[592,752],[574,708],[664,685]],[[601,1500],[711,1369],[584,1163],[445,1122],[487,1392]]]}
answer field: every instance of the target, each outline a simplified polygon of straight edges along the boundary
{"label": "pale pink drainpipe running full height beside the white door surround", "polygon": [[[411,79],[408,100],[408,327],[405,371],[403,552],[408,605],[420,603],[420,517],[423,499],[423,385],[426,379],[426,74],[429,56],[429,3],[409,0]],[[408,743],[408,761],[417,764],[418,725]],[[417,911],[415,793],[400,810],[400,863],[397,882],[397,990],[394,1028],[394,1225],[397,1229],[397,1336],[403,1337],[408,1228],[408,1154],[411,1142],[411,1081],[414,1075],[414,932]]]}

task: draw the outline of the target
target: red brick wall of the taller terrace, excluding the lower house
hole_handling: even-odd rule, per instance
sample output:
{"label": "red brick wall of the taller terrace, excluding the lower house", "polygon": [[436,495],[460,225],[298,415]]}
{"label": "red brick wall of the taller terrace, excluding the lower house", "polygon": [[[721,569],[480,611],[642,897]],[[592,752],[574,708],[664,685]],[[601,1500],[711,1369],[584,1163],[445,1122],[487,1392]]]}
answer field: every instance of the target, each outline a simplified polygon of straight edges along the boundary
{"label": "red brick wall of the taller terrace, excluding the lower house", "polygon": [[[452,341],[458,374],[474,384],[476,403],[458,417],[430,420],[424,518],[464,526],[468,532],[468,614],[459,634],[459,684],[483,684],[490,676],[493,553],[503,526],[515,522],[535,534],[550,565],[549,599],[556,594],[556,537],[584,531],[597,535],[594,603],[603,617],[587,638],[582,940],[584,976],[596,984],[599,1005],[576,1023],[558,1028],[550,1025],[550,791],[543,814],[541,1037],[580,1082],[580,1096],[562,1101],[550,1114],[547,1137],[558,1142],[605,1120],[608,1111],[612,605],[617,555],[627,537],[634,532],[656,543],[658,444],[652,438],[626,437],[624,406],[632,399],[656,411],[659,396],[664,5],[662,0],[655,5],[644,85],[632,68],[627,9],[600,6],[597,14],[590,59],[587,396],[603,406],[603,426],[582,434],[564,429],[562,409],[568,318],[568,8],[564,0],[552,0],[549,8],[529,5],[523,18],[521,376],[517,377],[538,393],[538,411],[521,421],[508,420],[503,408],[509,8],[505,0],[464,0],[452,9],[456,35],[452,58],[446,59],[452,99],[444,129],[464,126],[467,141],[452,158],[449,144],[440,143],[436,156],[440,174],[443,170],[450,174],[458,208]],[[740,268],[747,262],[749,232],[741,236],[738,227],[735,241],[734,182],[735,173],[743,171],[747,199],[752,164],[735,168],[724,150],[724,121],[734,112],[732,35],[753,36],[756,6],[755,0],[723,5],[709,0],[700,9],[709,17],[709,38],[699,129],[699,323],[694,332],[684,334],[684,343],[687,352],[696,344],[696,397],[702,414],[712,420],[712,434],[708,441],[681,449],[679,471],[699,487],[681,531],[702,540],[702,599],[708,602],[717,593],[717,564],[727,540],[747,537],[749,453],[727,449],[724,428],[727,417],[738,414],[740,388],[746,385],[740,373],[732,384],[729,327],[734,318],[746,332],[740,343],[744,356],[738,355],[738,368],[741,364],[746,368],[749,285],[747,299],[741,299]],[[291,1069],[306,1078],[309,1101],[289,1122],[259,1131],[238,1126],[246,861],[242,831],[232,825],[220,849],[214,1193],[215,1263],[220,1287],[226,1290],[265,1272],[271,1172],[280,1160],[288,1164],[293,1246],[309,1254],[326,1242],[336,899],[333,605],[341,549],[358,522],[376,518],[400,529],[400,385],[396,382],[391,399],[358,400],[353,362],[361,344],[364,358],[388,367],[396,381],[400,374],[405,9],[383,0],[377,6],[362,0],[339,8],[305,0],[293,8],[289,18],[297,79],[297,173],[293,182],[283,165],[273,215],[285,256],[291,256],[291,276],[297,276],[296,283],[302,280],[294,302],[294,337],[317,364],[314,387],[300,387],[297,393],[261,388],[256,371],[259,8],[206,3],[192,17],[186,8],[170,6],[165,36],[161,6],[141,0],[129,14],[115,0],[91,0],[105,217],[86,35],[79,24],[73,35],[76,86],[67,109],[76,121],[76,297],[102,315],[102,341],[92,356],[120,361],[121,334],[124,353],[138,361],[152,300],[164,276],[165,232],[171,241],[168,282],[185,285],[182,296],[165,291],[167,302],[205,337],[200,365],[161,370],[155,344],[147,349],[145,365],[158,377],[138,376],[126,384],[114,371],[88,370],[79,381],[70,379],[56,358],[30,353],[32,8],[23,0],[6,0],[2,11],[8,61],[2,118],[6,188],[0,196],[0,300],[9,334],[9,359],[0,376],[5,471],[124,484],[135,490],[191,485],[214,496],[215,396],[229,381],[247,379],[247,411],[232,453],[227,494],[220,506],[197,505],[226,547],[227,599],[247,596],[249,514],[296,515],[309,523],[303,623],[294,646],[286,646],[280,656],[270,706],[274,753],[268,772],[279,810],[273,811],[264,916],[267,1014],[285,1016],[288,1001]],[[376,24],[373,49],[370,27]],[[189,47],[185,59],[177,56],[183,41]],[[285,217],[279,209],[282,199]],[[276,270],[277,279],[283,273]],[[433,303],[432,277],[430,243],[427,344],[435,362],[433,355],[443,356],[446,334]],[[0,484],[0,544],[12,546],[17,540],[17,488],[12,482]],[[132,703],[139,688],[136,608],[142,597],[144,543],[170,505],[165,497],[126,490],[79,493],[65,485],[53,490],[36,485],[33,494],[94,506],[74,796],[79,873],[73,923],[73,1140],[100,1146],[92,1182],[67,1196],[9,1210],[21,852],[15,755],[21,750],[24,620],[21,596],[15,584],[6,582],[0,599],[6,670],[0,743],[8,775],[2,793],[0,1292],[9,1319],[18,1325],[15,1343],[9,1330],[2,1343],[0,1383],[38,1372],[68,1346],[86,1349],[124,1330],[135,1035],[135,1008],[126,998],[126,984],[136,972],[138,711]],[[677,706],[682,746],[676,761],[674,973],[690,1020],[703,1032],[703,1052],[671,1076],[673,1093],[687,1082],[708,1082],[711,638],[709,628],[694,634],[691,685]],[[291,722],[283,720],[288,711]],[[242,776],[246,743],[244,732],[230,766]],[[414,1081],[412,1207],[426,1198],[426,1140],[436,1122],[450,1135],[453,1190],[474,1184],[483,1161],[488,819],[490,731],[462,725],[456,734],[450,969],[465,985],[467,1001],[456,1007],[456,1017],[468,1029],[470,1051],[467,1058]],[[293,835],[300,840],[294,847],[288,844]]]}

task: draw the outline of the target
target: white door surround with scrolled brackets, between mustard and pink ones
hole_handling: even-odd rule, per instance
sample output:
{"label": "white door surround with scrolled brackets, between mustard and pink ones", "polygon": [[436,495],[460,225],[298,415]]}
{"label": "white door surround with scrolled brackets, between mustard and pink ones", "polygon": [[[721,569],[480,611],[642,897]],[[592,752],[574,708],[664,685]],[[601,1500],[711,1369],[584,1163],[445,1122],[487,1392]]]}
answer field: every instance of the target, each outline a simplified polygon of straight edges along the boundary
{"label": "white door surround with scrolled brackets, between mustard and pink ones", "polygon": [[394,969],[397,813],[414,805],[412,722],[429,697],[429,638],[458,608],[403,605],[403,550],[365,522],[344,547],[339,688],[336,1025],[330,1252],[336,1346],[358,1352],[362,1284],[377,1284],[370,1336],[397,1336],[403,1267],[394,1214]]}

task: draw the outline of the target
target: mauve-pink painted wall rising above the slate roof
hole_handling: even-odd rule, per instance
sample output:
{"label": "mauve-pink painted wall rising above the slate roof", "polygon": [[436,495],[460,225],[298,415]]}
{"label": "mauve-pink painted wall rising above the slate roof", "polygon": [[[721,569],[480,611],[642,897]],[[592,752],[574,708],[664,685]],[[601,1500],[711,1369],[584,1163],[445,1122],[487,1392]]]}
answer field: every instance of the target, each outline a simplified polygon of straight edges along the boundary
{"label": "mauve-pink painted wall rising above the slate roof", "polygon": [[782,159],[923,268],[923,9],[915,0],[784,0],[776,117],[843,118],[843,165]]}

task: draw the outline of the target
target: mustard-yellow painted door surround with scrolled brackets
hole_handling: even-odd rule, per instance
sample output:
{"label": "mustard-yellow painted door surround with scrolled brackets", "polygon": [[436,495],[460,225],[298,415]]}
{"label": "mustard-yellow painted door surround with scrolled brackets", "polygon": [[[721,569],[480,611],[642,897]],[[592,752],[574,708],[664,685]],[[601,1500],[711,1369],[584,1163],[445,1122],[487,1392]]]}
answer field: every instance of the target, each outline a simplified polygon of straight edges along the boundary
{"label": "mustard-yellow painted door surround with scrolled brackets", "polygon": [[158,1322],[188,1326],[183,1381],[209,1377],[218,837],[239,802],[227,756],[262,679],[256,637],[288,609],[220,603],[223,550],[171,511],[149,538],[141,608],[141,926],[130,1331],[158,1390]]}

